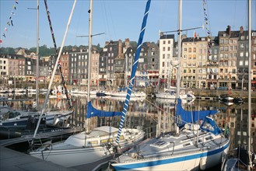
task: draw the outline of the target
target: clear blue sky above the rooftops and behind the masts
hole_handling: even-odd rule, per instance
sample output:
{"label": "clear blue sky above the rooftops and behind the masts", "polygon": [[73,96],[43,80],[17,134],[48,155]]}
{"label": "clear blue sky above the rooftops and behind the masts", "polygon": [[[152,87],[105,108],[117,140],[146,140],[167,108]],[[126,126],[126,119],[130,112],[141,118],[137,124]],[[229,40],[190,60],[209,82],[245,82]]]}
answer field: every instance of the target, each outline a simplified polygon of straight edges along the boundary
{"label": "clear blue sky above the rooftops and behind the masts", "polygon": [[[51,23],[54,29],[57,46],[61,46],[72,0],[48,0]],[[245,0],[205,0],[206,13],[209,19],[209,30],[212,36],[218,31],[226,30],[230,25],[232,30],[244,26],[247,30],[247,1]],[[37,0],[0,0],[0,30],[2,47],[36,47],[37,46]],[[256,1],[252,0],[252,29],[256,30]],[[13,9],[16,5],[16,10]],[[105,41],[123,40],[129,38],[138,41],[146,0],[95,0],[93,1],[93,34],[104,33],[93,37],[93,44],[103,47]],[[32,9],[28,9],[32,8]],[[78,0],[72,16],[72,22],[65,40],[67,45],[88,45],[89,30],[89,0]],[[152,0],[149,9],[148,23],[144,41],[157,42],[159,31],[177,30],[177,0]],[[11,15],[15,12],[15,15]],[[182,13],[182,29],[205,25],[202,0],[184,0]],[[13,26],[8,26],[9,16],[12,16]],[[40,0],[40,46],[54,47],[51,31],[47,21],[44,0]],[[5,31],[5,27],[8,31]],[[201,37],[207,36],[205,30],[195,30]],[[5,37],[3,37],[5,33]],[[194,30],[188,31],[188,37],[193,37]],[[177,33],[174,33],[177,34]]]}

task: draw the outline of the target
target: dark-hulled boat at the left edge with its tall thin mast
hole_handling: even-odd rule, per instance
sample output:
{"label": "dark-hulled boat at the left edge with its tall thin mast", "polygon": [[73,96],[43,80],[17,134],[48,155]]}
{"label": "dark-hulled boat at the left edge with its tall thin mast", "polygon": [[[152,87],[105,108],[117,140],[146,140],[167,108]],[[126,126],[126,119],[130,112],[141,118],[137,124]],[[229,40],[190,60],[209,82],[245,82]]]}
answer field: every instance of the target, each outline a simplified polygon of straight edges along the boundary
{"label": "dark-hulled boat at the left edge with its tall thin mast", "polygon": [[[51,24],[50,24],[51,25]],[[53,33],[53,32],[51,32]],[[44,119],[41,120],[40,118],[40,112],[39,109],[39,87],[38,87],[38,81],[39,81],[39,0],[37,0],[37,79],[36,79],[36,89],[32,89],[32,87],[26,88],[26,93],[28,92],[35,92],[36,93],[36,99],[35,102],[33,102],[33,108],[35,108],[35,111],[23,111],[23,110],[14,110],[12,108],[9,109],[8,112],[4,113],[2,116],[0,116],[0,127],[4,128],[26,128],[30,129],[34,127],[28,127],[28,125],[33,124],[37,125],[37,128],[39,127],[45,127],[46,124],[54,124],[57,120],[67,120],[68,117],[70,117],[73,113],[73,110],[65,110],[65,111],[47,111],[42,112],[41,117],[44,115]],[[46,96],[47,98],[48,96]]]}

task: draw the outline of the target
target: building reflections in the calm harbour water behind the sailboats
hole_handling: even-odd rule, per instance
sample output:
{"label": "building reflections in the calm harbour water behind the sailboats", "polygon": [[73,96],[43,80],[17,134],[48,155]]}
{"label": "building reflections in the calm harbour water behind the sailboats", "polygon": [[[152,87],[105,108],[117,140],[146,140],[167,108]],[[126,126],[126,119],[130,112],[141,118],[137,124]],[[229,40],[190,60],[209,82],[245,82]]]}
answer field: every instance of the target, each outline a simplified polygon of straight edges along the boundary
{"label": "building reflections in the calm harbour water behind the sailboats", "polygon": [[[31,98],[31,97],[30,97]],[[32,98],[35,98],[32,96]],[[124,106],[124,99],[99,97],[91,98],[93,106],[98,110],[121,111]],[[71,117],[71,124],[75,127],[85,127],[86,120],[86,97],[72,96],[72,104],[75,113]],[[40,106],[44,103],[44,96],[40,96]],[[229,127],[231,134],[230,149],[239,145],[247,146],[247,118],[248,104],[225,106],[216,100],[195,100],[192,103],[184,103],[186,110],[219,110],[216,115],[216,123],[219,127]],[[252,106],[254,106],[253,104]],[[14,108],[24,107],[24,103],[14,102]],[[256,152],[256,109],[251,107],[251,139],[254,152]],[[68,110],[66,99],[49,99],[47,110]],[[118,127],[120,117],[95,117],[90,120],[91,127],[103,125]],[[146,136],[152,137],[156,134],[174,130],[174,101],[160,99],[136,99],[131,100],[124,127],[142,127]],[[232,152],[232,151],[230,151]]]}

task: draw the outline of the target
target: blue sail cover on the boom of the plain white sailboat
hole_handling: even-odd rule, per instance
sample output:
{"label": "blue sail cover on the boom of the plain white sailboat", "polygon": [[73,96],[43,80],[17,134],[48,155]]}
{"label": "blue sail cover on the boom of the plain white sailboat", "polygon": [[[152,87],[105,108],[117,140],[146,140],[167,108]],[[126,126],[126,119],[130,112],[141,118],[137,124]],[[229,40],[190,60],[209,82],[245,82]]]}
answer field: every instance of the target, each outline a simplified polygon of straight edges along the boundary
{"label": "blue sail cover on the boom of the plain white sailboat", "polygon": [[107,112],[103,110],[97,110],[93,107],[92,102],[89,102],[87,104],[87,114],[86,118],[90,117],[114,117],[114,116],[120,116],[121,112]]}

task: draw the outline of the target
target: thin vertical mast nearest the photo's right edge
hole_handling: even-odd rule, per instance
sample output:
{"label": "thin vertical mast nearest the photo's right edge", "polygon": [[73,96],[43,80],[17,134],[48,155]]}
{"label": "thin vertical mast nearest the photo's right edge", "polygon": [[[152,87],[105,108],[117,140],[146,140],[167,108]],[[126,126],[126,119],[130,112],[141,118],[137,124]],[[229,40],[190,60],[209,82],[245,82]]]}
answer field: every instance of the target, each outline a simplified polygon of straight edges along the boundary
{"label": "thin vertical mast nearest the photo's right edge", "polygon": [[249,165],[247,170],[251,170],[251,0],[248,0],[248,155]]}

